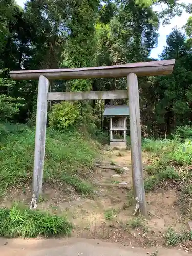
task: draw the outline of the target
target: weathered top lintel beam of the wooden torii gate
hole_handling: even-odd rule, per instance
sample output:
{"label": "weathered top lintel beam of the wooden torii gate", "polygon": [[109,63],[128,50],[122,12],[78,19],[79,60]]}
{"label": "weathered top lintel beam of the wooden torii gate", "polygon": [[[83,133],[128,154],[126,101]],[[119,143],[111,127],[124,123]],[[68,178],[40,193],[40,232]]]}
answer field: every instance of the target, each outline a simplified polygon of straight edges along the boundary
{"label": "weathered top lintel beam of the wooden torii gate", "polygon": [[175,59],[130,63],[116,66],[101,66],[72,69],[43,69],[10,71],[14,80],[37,80],[40,75],[47,79],[86,79],[86,78],[111,78],[126,77],[129,73],[137,76],[156,76],[171,74]]}

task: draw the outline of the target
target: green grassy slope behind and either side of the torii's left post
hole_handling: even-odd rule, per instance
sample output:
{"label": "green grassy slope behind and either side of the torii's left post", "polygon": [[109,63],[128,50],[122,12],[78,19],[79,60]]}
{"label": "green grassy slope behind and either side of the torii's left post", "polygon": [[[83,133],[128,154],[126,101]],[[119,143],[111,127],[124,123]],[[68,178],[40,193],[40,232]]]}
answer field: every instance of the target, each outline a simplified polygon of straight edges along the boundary
{"label": "green grassy slope behind and either side of the torii's left post", "polygon": [[[3,194],[10,187],[23,187],[32,181],[35,131],[25,125],[8,125],[0,132],[3,138],[0,142],[0,193]],[[78,193],[91,194],[93,188],[84,178],[97,154],[98,144],[82,133],[48,129],[44,182],[68,184]]]}

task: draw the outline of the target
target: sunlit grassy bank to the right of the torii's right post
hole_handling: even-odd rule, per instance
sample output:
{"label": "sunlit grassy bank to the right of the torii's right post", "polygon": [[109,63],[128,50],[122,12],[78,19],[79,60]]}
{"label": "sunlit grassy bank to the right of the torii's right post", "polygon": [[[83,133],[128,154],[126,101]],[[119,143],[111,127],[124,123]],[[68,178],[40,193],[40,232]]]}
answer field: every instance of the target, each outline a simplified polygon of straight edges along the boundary
{"label": "sunlit grassy bank to the right of the torii's right post", "polygon": [[179,127],[171,139],[144,139],[144,151],[150,152],[148,177],[144,181],[148,192],[170,181],[178,189],[179,205],[183,216],[192,218],[192,127]]}

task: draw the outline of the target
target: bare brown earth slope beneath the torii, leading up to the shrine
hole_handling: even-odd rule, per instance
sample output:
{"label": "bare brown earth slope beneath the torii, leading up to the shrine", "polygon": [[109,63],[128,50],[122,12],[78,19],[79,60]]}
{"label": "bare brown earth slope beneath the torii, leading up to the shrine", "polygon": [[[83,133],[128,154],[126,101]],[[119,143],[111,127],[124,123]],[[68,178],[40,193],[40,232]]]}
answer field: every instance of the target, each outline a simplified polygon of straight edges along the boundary
{"label": "bare brown earth slope beneath the torii, leading up to the shrine", "polygon": [[[70,187],[67,191],[65,188],[65,192],[62,187],[45,187],[44,198],[38,204],[38,208],[57,212],[59,215],[67,212],[68,218],[75,227],[74,237],[108,240],[123,246],[162,247],[163,233],[168,227],[173,227],[176,231],[186,228],[177,204],[177,191],[171,188],[146,194],[150,214],[146,223],[147,232],[139,228],[128,228],[127,223],[133,218],[135,208],[135,205],[127,204],[127,193],[132,189],[131,152],[129,150],[105,152],[103,162],[106,161],[125,167],[125,170],[119,174],[120,177],[112,178],[112,175],[116,174],[115,170],[95,167],[89,178],[96,188],[97,196],[94,199],[83,198]],[[143,155],[143,164],[145,165],[146,162],[147,158]],[[118,187],[121,182],[126,182],[127,185]],[[13,191],[1,204],[9,207],[13,199],[29,203],[30,191],[27,189],[25,193]],[[106,220],[106,210],[114,212],[110,220]],[[190,245],[184,249],[190,251]]]}

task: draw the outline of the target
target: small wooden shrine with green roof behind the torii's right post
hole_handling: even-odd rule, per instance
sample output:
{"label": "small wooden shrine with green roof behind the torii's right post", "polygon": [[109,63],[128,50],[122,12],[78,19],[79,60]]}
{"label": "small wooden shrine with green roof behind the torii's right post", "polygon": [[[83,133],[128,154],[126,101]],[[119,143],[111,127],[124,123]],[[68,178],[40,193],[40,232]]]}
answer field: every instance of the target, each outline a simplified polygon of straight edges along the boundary
{"label": "small wooden shrine with green roof behind the torii's right post", "polygon": [[[103,116],[110,118],[110,146],[119,149],[126,148],[126,118],[129,116],[129,107],[127,105],[106,105]],[[119,138],[115,139],[117,135]]]}

